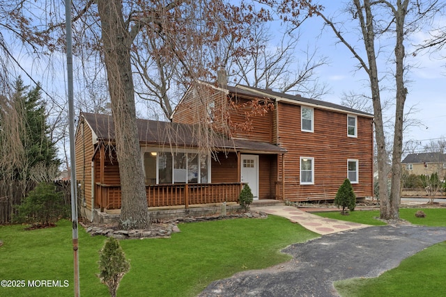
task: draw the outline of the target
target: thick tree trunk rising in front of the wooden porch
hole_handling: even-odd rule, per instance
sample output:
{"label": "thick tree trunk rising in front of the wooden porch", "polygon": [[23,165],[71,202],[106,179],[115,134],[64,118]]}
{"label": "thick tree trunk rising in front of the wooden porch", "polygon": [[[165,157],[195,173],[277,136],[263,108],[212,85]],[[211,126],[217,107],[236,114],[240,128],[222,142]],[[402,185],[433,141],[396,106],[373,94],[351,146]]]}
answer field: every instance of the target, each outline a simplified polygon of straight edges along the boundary
{"label": "thick tree trunk rising in front of the wooden porch", "polygon": [[132,40],[125,29],[121,1],[98,0],[97,3],[121,177],[120,227],[143,229],[150,220],[134,105]]}

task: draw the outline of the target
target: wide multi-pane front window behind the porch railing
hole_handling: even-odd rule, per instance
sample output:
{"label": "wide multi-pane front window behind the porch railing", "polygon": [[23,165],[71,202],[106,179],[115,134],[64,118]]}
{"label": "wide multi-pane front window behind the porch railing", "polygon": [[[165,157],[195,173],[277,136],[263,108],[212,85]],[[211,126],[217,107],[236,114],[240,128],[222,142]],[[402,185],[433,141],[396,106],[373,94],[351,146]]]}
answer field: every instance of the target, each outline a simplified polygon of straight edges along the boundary
{"label": "wide multi-pane front window behind the porch railing", "polygon": [[146,184],[206,184],[209,166],[209,155],[198,152],[144,152]]}

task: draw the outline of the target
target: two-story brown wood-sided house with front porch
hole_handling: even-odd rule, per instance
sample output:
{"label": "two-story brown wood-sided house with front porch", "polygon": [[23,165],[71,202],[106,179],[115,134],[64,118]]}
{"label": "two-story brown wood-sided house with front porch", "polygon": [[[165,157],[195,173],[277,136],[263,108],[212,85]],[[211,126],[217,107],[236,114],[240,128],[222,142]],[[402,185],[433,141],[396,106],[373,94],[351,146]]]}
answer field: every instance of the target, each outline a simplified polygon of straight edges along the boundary
{"label": "two-story brown wood-sided house with front porch", "polygon": [[[250,113],[250,102],[273,109]],[[373,118],[272,90],[196,83],[171,122],[137,120],[148,205],[235,202],[245,183],[254,199],[332,200],[346,178],[357,198],[371,196]],[[113,139],[112,117],[81,113],[76,172],[86,213],[121,207]]]}

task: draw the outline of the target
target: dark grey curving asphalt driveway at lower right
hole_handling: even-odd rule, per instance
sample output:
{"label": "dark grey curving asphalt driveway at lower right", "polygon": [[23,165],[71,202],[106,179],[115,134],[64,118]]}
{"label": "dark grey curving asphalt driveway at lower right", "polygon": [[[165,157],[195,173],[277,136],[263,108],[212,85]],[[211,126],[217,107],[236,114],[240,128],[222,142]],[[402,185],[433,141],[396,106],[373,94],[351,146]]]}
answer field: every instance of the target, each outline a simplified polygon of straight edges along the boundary
{"label": "dark grey curving asphalt driveway at lower right", "polygon": [[371,278],[446,241],[446,227],[386,225],[323,235],[284,250],[290,262],[211,283],[199,296],[338,296],[336,280]]}

